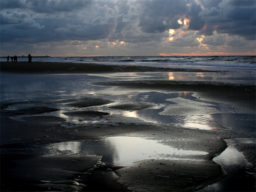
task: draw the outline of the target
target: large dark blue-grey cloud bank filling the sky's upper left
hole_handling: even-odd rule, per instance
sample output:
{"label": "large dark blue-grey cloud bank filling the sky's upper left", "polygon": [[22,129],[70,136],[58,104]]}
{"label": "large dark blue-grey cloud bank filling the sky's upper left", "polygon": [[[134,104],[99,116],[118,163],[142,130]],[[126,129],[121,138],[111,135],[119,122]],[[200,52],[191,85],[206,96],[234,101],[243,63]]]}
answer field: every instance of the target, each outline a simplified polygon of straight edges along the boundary
{"label": "large dark blue-grey cloud bank filling the sky's upper left", "polygon": [[[101,24],[101,17],[86,19],[83,11],[91,1],[12,1],[1,2],[1,42],[50,42],[63,40],[99,40],[114,30],[115,24]],[[22,4],[23,3],[23,4]],[[23,5],[23,6],[21,6]],[[13,9],[11,9],[13,8]],[[75,18],[71,10],[76,11]],[[67,12],[63,16],[36,13]],[[88,15],[87,15],[88,17]],[[84,22],[86,19],[86,22]]]}

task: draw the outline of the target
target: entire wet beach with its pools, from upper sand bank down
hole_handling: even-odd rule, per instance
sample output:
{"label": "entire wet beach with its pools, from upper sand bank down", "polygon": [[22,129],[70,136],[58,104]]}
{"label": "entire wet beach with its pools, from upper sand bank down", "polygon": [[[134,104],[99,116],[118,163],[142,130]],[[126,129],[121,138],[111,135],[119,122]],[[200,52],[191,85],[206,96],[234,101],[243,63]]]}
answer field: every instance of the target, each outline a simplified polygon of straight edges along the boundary
{"label": "entire wet beach with its pools, from upper sand bank down", "polygon": [[255,85],[226,73],[1,62],[1,191],[254,191]]}

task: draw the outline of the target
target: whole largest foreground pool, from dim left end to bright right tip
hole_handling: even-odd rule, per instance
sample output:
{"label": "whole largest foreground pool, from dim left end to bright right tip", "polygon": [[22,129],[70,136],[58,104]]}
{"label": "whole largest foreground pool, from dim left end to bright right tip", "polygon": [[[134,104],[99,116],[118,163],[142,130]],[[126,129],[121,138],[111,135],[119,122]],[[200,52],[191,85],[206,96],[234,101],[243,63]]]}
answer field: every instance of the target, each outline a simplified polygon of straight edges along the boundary
{"label": "whole largest foreground pool, from dim left end to bright right tip", "polygon": [[102,155],[106,164],[129,166],[135,161],[146,159],[202,159],[207,152],[176,149],[161,144],[157,140],[140,137],[116,136],[103,141],[78,142],[68,141],[50,145],[45,155],[57,154],[91,154]]}

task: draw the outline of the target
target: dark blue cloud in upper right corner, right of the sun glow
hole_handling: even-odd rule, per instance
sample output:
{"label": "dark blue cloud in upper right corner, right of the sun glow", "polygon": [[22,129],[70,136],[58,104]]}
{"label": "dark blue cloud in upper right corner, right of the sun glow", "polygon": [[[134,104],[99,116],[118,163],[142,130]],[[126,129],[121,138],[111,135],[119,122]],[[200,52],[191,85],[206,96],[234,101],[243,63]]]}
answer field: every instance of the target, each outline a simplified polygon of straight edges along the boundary
{"label": "dark blue cloud in upper right corner, right of the sun glow", "polygon": [[218,33],[255,40],[255,12],[255,1],[224,0],[216,7],[205,8],[199,16]]}

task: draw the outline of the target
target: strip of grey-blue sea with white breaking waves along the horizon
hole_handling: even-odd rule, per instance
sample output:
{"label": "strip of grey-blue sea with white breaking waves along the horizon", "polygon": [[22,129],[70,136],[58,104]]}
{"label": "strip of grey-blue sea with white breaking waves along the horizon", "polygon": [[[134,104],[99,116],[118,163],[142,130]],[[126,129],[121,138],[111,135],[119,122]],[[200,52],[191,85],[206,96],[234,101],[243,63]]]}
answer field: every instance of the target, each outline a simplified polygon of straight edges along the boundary
{"label": "strip of grey-blue sea with white breaking waves along the horizon", "polygon": [[[1,57],[1,61],[6,58]],[[18,61],[27,61],[19,57]],[[33,62],[76,62],[159,67],[256,68],[256,56],[116,56],[116,57],[32,57]]]}

